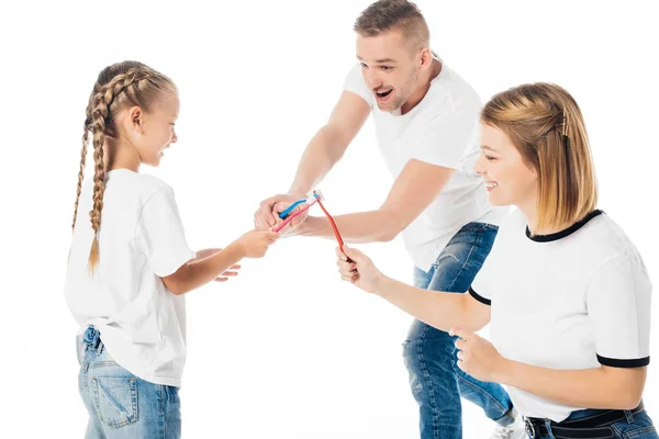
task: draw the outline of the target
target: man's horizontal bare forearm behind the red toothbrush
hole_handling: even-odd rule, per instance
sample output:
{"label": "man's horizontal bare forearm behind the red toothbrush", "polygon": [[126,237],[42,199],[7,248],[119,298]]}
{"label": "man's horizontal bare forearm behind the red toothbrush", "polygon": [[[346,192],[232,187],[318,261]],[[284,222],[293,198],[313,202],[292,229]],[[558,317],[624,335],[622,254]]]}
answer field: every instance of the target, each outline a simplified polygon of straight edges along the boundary
{"label": "man's horizontal bare forearm behind the red toothbrush", "polygon": [[[388,211],[368,211],[334,216],[336,227],[347,243],[381,243],[393,239],[402,226]],[[334,232],[325,216],[310,216],[300,226],[299,234],[333,238]]]}

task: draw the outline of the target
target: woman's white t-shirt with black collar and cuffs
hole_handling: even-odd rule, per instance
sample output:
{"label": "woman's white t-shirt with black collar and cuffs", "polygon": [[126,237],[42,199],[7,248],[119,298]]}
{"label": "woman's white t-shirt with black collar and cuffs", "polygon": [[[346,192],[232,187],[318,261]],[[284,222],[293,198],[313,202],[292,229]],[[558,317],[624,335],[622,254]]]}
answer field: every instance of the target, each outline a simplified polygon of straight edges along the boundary
{"label": "woman's white t-shirt with black collar and cuffs", "polygon": [[[640,255],[601,211],[567,230],[535,237],[514,211],[501,224],[470,293],[491,303],[492,344],[504,358],[581,370],[649,363],[651,289]],[[592,408],[513,386],[509,392],[522,415],[557,423]]]}

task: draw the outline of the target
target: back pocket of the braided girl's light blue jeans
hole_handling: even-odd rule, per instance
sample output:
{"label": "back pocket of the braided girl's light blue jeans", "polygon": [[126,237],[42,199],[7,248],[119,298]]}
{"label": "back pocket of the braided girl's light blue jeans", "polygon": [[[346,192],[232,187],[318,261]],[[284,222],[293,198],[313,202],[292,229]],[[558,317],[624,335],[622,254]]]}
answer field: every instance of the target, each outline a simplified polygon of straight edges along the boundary
{"label": "back pocket of the braided girl's light blue jeans", "polygon": [[121,428],[137,421],[135,378],[96,376],[92,387],[96,409],[103,424]]}

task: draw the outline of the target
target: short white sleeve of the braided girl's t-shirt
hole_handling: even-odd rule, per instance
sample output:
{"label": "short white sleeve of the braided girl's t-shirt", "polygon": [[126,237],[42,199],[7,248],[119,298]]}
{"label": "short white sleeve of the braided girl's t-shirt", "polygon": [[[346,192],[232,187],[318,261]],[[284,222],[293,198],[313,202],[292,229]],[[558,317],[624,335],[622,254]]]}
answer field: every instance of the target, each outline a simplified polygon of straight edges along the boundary
{"label": "short white sleeve of the braided girl's t-shirt", "polygon": [[188,247],[174,191],[160,188],[142,207],[135,233],[137,248],[146,256],[152,271],[164,278],[194,258]]}

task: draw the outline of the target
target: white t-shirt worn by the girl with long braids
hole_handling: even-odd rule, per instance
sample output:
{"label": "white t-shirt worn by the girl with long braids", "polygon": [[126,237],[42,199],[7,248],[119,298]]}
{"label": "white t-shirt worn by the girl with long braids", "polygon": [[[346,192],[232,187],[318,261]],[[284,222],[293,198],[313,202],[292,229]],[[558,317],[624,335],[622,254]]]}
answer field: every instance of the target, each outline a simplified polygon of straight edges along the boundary
{"label": "white t-shirt worn by the girl with long braids", "polygon": [[110,356],[145,381],[181,385],[186,361],[185,296],[160,278],[194,258],[186,243],[171,188],[127,169],[108,172],[100,261],[88,273],[93,239],[89,222],[93,183],[80,195],[66,274],[68,306],[81,325],[93,325]]}

